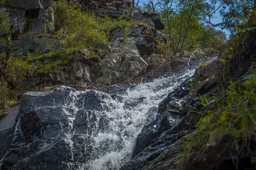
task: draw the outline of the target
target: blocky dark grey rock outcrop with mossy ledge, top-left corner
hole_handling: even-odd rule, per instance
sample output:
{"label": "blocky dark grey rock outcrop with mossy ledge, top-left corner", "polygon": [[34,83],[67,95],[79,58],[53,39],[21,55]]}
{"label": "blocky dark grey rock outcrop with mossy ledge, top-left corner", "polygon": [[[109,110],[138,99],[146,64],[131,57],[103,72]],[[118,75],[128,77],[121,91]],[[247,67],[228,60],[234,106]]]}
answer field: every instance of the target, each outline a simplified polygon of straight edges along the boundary
{"label": "blocky dark grey rock outcrop with mossy ledge, top-left corner", "polygon": [[[54,31],[54,13],[50,7],[52,2],[6,0],[4,6],[0,6],[0,13],[7,13],[12,26],[12,56],[56,49],[56,45],[52,44],[52,35],[42,34]],[[0,47],[0,51],[4,52],[5,47]]]}

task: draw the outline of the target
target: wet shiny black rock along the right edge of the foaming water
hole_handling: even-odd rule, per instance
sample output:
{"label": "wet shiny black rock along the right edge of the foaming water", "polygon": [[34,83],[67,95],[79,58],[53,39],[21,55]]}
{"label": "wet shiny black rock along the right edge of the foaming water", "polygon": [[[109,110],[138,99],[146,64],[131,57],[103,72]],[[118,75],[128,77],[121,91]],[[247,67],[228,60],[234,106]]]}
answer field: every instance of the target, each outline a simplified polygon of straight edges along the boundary
{"label": "wet shiny black rock along the right edge of the foaming water", "polygon": [[[186,81],[180,84],[179,88],[169,93],[168,97],[164,98],[159,104],[156,120],[143,127],[136,139],[136,144],[132,152],[132,158],[134,158],[132,161],[136,162],[137,159],[145,160],[144,156],[139,157],[137,155],[144,149],[147,150],[149,146],[151,147],[151,145],[154,144],[154,141],[157,141],[157,137],[162,135],[163,132],[166,132],[166,130],[175,128],[175,126],[182,120],[187,111],[184,99],[190,90],[186,85],[192,81],[192,77],[188,77]],[[150,152],[152,153],[147,154],[154,153],[152,150],[150,150]]]}

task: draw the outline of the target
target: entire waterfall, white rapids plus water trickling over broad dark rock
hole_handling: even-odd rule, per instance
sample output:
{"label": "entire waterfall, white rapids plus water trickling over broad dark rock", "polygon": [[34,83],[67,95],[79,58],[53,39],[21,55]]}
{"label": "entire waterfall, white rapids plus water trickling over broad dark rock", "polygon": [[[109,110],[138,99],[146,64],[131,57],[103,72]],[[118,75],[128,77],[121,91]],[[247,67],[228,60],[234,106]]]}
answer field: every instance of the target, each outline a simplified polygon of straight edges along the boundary
{"label": "entire waterfall, white rapids plus water trickling over broad dark rock", "polygon": [[159,103],[195,68],[147,83],[26,93],[0,168],[120,169]]}

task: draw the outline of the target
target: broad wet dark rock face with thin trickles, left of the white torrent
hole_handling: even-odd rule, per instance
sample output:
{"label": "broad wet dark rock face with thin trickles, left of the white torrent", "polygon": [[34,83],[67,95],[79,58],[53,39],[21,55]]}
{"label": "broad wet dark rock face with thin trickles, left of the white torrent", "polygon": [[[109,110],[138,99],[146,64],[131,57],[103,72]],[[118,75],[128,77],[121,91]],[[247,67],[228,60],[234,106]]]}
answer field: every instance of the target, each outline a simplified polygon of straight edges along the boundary
{"label": "broad wet dark rock face with thin trickles, left of the white torrent", "polygon": [[26,93],[16,118],[12,150],[4,155],[1,169],[27,169],[28,165],[31,169],[77,169],[93,157],[91,135],[97,133],[93,127],[106,124],[96,125],[97,115],[90,111],[104,109],[102,99],[108,95],[88,91],[74,98],[74,91],[60,87],[49,93]]}

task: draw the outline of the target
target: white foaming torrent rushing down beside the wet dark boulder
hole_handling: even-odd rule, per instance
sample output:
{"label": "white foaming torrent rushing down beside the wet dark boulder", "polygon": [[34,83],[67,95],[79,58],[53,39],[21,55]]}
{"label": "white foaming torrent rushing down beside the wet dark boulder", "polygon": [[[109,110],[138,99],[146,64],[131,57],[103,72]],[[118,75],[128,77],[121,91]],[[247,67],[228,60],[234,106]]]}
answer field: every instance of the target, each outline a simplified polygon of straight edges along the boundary
{"label": "white foaming torrent rushing down beside the wet dark boulder", "polygon": [[179,75],[138,84],[128,88],[119,99],[105,98],[103,105],[109,109],[97,114],[109,120],[108,128],[93,135],[92,152],[97,156],[81,169],[119,169],[131,157],[141,129],[156,118],[159,103],[194,72],[194,69],[186,70]]}

